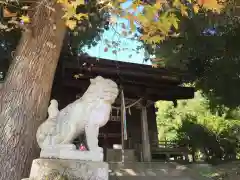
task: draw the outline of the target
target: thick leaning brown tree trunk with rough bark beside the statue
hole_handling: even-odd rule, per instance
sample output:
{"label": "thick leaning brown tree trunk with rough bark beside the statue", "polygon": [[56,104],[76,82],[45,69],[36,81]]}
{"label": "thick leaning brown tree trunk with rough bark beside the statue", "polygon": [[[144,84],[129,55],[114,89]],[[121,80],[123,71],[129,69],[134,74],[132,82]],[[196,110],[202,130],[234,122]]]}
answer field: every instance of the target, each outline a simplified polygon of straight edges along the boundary
{"label": "thick leaning brown tree trunk with rough bark beside the statue", "polygon": [[0,91],[0,180],[27,177],[39,155],[36,131],[46,118],[66,31],[60,5],[52,5],[56,12],[49,6],[34,10]]}

